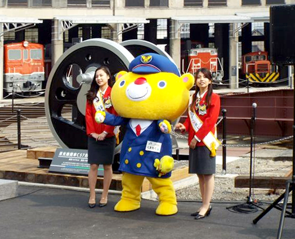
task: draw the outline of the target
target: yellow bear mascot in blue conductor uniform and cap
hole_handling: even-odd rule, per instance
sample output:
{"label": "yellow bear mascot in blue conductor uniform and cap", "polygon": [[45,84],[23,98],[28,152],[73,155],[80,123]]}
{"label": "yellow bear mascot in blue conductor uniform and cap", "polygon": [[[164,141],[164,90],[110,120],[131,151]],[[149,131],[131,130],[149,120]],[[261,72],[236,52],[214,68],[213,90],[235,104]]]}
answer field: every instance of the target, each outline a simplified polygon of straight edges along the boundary
{"label": "yellow bear mascot in blue conductor uniform and cap", "polygon": [[126,125],[119,170],[122,196],[116,211],[140,208],[141,186],[145,177],[157,193],[158,215],[177,213],[172,183],[174,166],[171,124],[186,110],[194,77],[180,76],[177,66],[158,54],[136,57],[129,72],[120,71],[112,88],[112,104],[119,116],[97,111],[95,120],[109,125]]}

